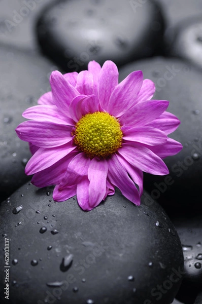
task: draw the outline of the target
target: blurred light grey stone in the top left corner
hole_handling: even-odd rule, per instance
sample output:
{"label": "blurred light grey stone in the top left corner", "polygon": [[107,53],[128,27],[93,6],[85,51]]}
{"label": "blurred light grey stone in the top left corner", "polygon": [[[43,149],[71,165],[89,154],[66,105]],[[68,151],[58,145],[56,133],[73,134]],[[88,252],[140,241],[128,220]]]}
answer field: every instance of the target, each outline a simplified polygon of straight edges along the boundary
{"label": "blurred light grey stone in the top left corner", "polygon": [[0,43],[36,50],[36,19],[43,7],[50,2],[53,0],[1,0]]}

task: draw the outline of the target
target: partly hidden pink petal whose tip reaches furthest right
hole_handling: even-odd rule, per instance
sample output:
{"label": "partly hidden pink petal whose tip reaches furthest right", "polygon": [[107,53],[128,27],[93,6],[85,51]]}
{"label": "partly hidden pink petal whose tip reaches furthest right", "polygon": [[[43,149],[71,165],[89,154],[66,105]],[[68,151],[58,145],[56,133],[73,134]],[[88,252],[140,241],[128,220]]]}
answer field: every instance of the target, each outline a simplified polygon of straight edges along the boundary
{"label": "partly hidden pink petal whose tip reaches furthest right", "polygon": [[150,149],[160,158],[176,155],[182,148],[182,144],[172,138],[168,138],[167,142],[163,145],[150,147]]}

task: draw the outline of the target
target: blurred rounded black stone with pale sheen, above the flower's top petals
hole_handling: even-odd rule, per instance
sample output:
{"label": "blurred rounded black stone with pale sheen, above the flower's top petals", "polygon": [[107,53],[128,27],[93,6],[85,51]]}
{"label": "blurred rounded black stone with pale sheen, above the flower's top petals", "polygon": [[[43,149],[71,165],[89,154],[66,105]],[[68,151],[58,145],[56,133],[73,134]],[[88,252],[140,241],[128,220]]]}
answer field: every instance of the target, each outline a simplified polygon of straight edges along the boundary
{"label": "blurred rounded black stone with pale sheen, above the flower's top petals", "polygon": [[63,1],[48,6],[37,24],[42,51],[66,71],[90,60],[117,65],[159,52],[164,22],[152,0]]}

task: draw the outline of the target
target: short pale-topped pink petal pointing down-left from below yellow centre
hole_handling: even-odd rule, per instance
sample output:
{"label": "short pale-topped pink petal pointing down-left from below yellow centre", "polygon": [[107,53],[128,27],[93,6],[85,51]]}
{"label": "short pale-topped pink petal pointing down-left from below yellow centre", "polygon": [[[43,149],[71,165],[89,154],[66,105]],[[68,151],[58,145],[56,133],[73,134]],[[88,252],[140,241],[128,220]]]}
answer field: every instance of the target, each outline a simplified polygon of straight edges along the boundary
{"label": "short pale-topped pink petal pointing down-left from below yellow centre", "polygon": [[83,152],[76,155],[69,163],[59,188],[62,189],[80,182],[83,176],[87,176],[89,165],[90,159]]}

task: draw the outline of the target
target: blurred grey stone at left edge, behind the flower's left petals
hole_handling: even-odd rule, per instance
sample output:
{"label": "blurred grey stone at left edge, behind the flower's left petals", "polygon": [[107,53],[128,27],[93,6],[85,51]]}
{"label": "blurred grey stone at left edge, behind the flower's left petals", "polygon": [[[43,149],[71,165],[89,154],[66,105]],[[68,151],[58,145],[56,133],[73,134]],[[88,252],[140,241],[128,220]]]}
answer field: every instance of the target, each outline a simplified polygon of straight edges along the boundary
{"label": "blurred grey stone at left edge, behind the flower's left petals", "polygon": [[24,121],[22,112],[50,90],[49,74],[56,67],[42,56],[7,47],[0,47],[0,64],[1,202],[30,179],[24,174],[30,157],[28,144],[18,138],[15,128]]}

